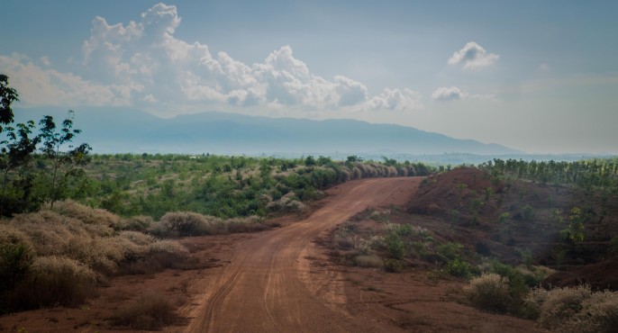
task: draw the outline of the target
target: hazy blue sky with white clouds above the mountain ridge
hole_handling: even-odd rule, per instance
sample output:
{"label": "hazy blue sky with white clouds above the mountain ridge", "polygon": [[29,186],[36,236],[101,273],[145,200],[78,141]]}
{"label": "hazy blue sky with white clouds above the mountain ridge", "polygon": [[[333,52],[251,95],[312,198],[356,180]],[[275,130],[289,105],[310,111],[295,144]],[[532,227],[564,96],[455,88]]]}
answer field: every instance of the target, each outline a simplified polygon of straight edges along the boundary
{"label": "hazy blue sky with white clouds above the mountain ridge", "polygon": [[350,118],[618,153],[617,13],[618,1],[3,0],[0,72],[23,107]]}

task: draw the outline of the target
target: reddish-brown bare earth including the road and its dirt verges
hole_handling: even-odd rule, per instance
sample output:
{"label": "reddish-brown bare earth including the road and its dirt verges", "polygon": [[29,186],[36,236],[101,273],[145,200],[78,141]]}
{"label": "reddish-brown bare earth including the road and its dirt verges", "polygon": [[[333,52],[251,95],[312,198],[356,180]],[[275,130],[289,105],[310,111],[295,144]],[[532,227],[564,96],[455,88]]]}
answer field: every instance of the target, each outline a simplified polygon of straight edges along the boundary
{"label": "reddish-brown bare earth including the road and its dirt verges", "polygon": [[534,322],[456,302],[466,284],[426,271],[387,274],[332,264],[320,245],[338,223],[368,207],[403,205],[420,178],[337,186],[304,220],[259,234],[186,238],[205,266],[114,279],[80,309],[25,311],[0,318],[0,330],[127,331],[109,318],[144,291],[166,293],[180,320],[168,332],[534,331]]}

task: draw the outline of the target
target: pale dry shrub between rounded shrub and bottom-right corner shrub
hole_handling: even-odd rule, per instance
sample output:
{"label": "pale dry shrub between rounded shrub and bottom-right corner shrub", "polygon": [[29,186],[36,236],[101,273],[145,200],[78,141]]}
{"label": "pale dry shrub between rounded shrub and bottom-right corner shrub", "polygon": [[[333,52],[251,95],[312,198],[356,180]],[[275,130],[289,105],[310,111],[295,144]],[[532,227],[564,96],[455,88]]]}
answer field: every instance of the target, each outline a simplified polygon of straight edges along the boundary
{"label": "pale dry shrub between rounded shrub and bottom-right corner shrub", "polygon": [[592,296],[589,285],[573,288],[556,288],[540,300],[539,322],[546,328],[557,328],[583,309],[582,303]]}

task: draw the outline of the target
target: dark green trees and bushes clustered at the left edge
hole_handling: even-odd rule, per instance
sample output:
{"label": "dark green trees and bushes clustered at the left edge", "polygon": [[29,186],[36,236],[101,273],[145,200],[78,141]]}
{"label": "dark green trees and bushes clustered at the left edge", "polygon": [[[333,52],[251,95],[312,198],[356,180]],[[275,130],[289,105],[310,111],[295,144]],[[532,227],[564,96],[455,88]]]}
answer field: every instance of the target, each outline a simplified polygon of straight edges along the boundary
{"label": "dark green trees and bushes clustered at the left edge", "polygon": [[[77,187],[77,193],[83,194],[83,171],[63,166],[85,162],[84,157],[90,147],[82,144],[77,148],[69,146],[68,152],[60,151],[80,132],[72,130],[73,112],[69,111],[68,119],[62,122],[60,130],[56,130],[51,116],[44,116],[39,122],[39,134],[32,137],[36,129],[34,121],[14,123],[11,104],[18,101],[18,94],[8,86],[5,75],[0,75],[0,99],[0,133],[3,134],[0,137],[0,216],[35,211],[44,200],[49,200],[50,206],[53,206],[53,202],[68,196],[68,187]],[[42,144],[43,157],[48,158],[50,163],[35,156],[39,144]],[[33,160],[36,167],[32,166]]]}

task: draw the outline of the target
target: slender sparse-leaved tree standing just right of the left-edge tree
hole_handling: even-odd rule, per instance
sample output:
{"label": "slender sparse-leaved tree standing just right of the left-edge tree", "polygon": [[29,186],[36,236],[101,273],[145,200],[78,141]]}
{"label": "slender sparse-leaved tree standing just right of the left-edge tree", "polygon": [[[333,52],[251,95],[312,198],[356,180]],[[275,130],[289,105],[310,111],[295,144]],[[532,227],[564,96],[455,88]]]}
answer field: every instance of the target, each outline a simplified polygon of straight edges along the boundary
{"label": "slender sparse-leaved tree standing just right of the left-edge tree", "polygon": [[41,151],[51,162],[50,208],[53,208],[54,202],[59,199],[59,181],[75,172],[73,168],[64,170],[64,167],[85,163],[86,155],[92,149],[87,143],[83,143],[77,148],[68,145],[68,151],[60,150],[81,133],[81,130],[73,130],[74,117],[75,112],[69,110],[67,119],[62,121],[62,128],[59,130],[56,128],[53,117],[49,115],[44,116],[40,122],[40,137],[43,142]]}

